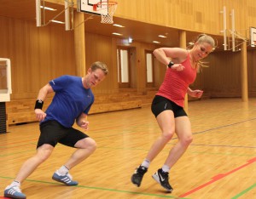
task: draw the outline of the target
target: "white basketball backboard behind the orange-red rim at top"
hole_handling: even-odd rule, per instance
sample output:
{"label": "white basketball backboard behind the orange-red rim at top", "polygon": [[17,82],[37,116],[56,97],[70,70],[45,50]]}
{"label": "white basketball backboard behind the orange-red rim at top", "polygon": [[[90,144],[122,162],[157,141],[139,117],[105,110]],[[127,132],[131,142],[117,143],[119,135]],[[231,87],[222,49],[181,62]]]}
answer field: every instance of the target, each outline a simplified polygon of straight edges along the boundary
{"label": "white basketball backboard behind the orange-red rim at top", "polygon": [[101,6],[101,8],[97,7],[97,9],[93,9],[93,5],[97,3],[108,2],[108,0],[78,0],[78,10],[79,12],[84,12],[88,14],[108,14],[108,7]]}

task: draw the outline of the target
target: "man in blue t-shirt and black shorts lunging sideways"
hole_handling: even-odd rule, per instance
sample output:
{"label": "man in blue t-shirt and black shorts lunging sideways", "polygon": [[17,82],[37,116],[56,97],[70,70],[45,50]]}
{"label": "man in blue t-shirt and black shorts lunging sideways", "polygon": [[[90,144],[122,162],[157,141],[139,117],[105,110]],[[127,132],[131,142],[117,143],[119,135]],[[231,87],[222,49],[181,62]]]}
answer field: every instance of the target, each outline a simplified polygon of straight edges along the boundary
{"label": "man in blue t-shirt and black shorts lunging sideways", "polygon": [[[38,166],[49,158],[57,143],[77,148],[65,164],[52,176],[55,181],[65,185],[78,185],[72,179],[69,170],[84,161],[96,150],[96,142],[87,134],[73,128],[76,122],[80,128],[88,129],[87,115],[94,102],[91,87],[103,81],[108,74],[108,67],[102,62],[95,62],[85,77],[61,76],[55,78],[39,90],[35,113],[40,122],[40,137],[37,152],[26,160],[15,180],[4,190],[5,197],[26,198],[20,190],[21,183]],[[55,92],[51,104],[42,111],[44,99]]]}

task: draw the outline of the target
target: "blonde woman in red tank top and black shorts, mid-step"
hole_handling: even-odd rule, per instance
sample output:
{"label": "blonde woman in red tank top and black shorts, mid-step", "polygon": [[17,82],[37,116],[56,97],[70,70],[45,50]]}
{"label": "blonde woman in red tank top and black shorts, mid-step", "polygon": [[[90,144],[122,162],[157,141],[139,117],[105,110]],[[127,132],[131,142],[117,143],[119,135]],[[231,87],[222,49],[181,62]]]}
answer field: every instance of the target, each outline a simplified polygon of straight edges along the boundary
{"label": "blonde woman in red tank top and black shorts, mid-step", "polygon": [[185,94],[201,98],[203,91],[192,90],[189,84],[195,81],[196,72],[200,70],[203,58],[212,52],[214,39],[206,34],[197,37],[193,48],[157,48],[154,56],[160,63],[167,65],[166,76],[158,93],[152,102],[151,110],[160,126],[161,134],[151,146],[143,163],[131,176],[131,182],[141,185],[143,175],[148,171],[150,162],[163,150],[166,144],[177,134],[177,144],[174,145],[162,168],[152,176],[167,191],[172,192],[169,184],[169,171],[177,160],[187,150],[192,142],[189,117],[183,110]]}

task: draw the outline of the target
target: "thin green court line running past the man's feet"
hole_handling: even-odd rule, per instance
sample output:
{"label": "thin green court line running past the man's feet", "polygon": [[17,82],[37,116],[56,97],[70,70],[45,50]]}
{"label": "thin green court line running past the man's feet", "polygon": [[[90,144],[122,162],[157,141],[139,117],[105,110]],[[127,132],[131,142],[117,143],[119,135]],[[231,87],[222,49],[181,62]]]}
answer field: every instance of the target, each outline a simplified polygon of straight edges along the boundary
{"label": "thin green court line running past the man's feet", "polygon": [[[0,176],[0,178],[1,179],[14,179],[14,178],[4,177],[4,176]],[[43,183],[43,184],[49,184],[49,185],[61,185],[60,183],[33,180],[33,179],[25,179],[25,181],[34,182],[34,183]],[[128,193],[128,194],[131,194],[131,195],[158,196],[158,197],[173,198],[173,199],[189,199],[189,198],[185,198],[185,197],[166,196],[166,195],[160,195],[160,194],[150,194],[150,193],[130,191],[130,190],[115,190],[115,189],[108,189],[108,188],[95,187],[95,186],[76,185],[74,187],[79,187],[79,188],[83,188],[83,189],[90,189],[90,190],[107,190],[107,191],[112,191],[112,192]]]}

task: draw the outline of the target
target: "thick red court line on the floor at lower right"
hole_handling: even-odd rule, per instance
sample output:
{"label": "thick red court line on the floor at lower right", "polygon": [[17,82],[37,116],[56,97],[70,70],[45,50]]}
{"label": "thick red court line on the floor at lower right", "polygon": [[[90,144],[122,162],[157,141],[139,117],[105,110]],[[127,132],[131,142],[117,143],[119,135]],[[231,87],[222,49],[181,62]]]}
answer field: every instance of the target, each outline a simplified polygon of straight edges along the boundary
{"label": "thick red court line on the floor at lower right", "polygon": [[241,165],[241,167],[235,168],[235,169],[231,170],[228,173],[221,173],[221,174],[218,174],[218,175],[214,176],[211,181],[209,181],[209,182],[207,182],[207,183],[205,183],[203,185],[200,185],[200,186],[196,187],[193,190],[189,190],[187,193],[184,193],[183,195],[181,195],[179,197],[189,196],[190,194],[194,193],[195,191],[201,190],[202,188],[206,187],[207,185],[211,185],[212,183],[218,181],[219,179],[223,179],[224,177],[230,175],[231,173],[235,173],[236,171],[240,170],[241,168],[247,167],[248,165],[252,164],[253,162],[256,162],[256,157],[254,157],[251,160],[248,160],[246,164]]}

